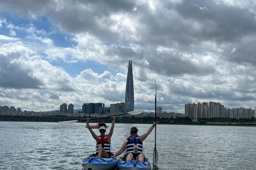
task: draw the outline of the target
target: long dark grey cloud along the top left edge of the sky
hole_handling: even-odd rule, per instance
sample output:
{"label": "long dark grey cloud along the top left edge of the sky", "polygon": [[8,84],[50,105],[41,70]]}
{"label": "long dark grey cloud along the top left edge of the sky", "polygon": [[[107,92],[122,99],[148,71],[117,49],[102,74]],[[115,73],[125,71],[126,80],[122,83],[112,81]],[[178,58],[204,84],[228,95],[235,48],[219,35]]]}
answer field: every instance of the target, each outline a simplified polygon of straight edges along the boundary
{"label": "long dark grey cloud along the top left edge of the sky", "polygon": [[105,41],[114,41],[118,35],[106,27],[111,24],[108,18],[113,12],[132,11],[133,3],[134,1],[5,1],[1,3],[0,9],[8,9],[9,13],[25,18],[46,16],[57,30],[66,33],[90,32]]}

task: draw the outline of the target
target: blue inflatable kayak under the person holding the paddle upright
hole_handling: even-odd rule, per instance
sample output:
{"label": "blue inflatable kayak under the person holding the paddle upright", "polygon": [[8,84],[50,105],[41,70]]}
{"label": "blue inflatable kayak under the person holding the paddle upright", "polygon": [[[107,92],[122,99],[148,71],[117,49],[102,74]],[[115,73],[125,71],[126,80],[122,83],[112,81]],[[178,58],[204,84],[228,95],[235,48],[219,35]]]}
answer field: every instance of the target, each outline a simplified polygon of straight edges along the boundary
{"label": "blue inflatable kayak under the person holding the paddle upright", "polygon": [[125,161],[121,158],[117,163],[117,169],[119,170],[142,170],[142,169],[151,169],[151,165],[148,162],[148,159],[144,159],[144,162],[140,160],[127,160]]}

